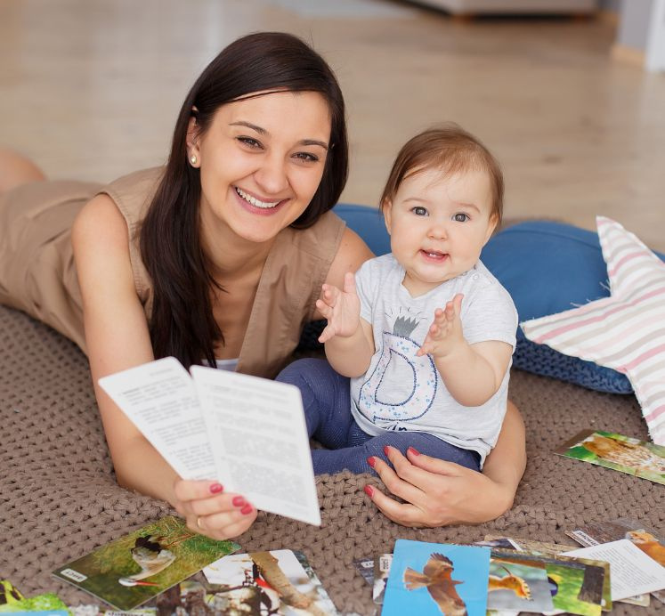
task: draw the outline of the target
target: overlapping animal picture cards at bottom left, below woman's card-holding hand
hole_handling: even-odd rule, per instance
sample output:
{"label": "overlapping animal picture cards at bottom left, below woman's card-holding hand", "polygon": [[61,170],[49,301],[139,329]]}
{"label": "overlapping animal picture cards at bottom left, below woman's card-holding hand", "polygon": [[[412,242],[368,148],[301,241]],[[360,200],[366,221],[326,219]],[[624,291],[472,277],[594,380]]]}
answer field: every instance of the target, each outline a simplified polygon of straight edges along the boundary
{"label": "overlapping animal picture cards at bottom left, below woman's card-holding hand", "polygon": [[[337,614],[301,552],[273,550],[231,555],[238,549],[239,545],[232,541],[207,539],[187,529],[182,520],[169,516],[67,563],[53,575],[116,610],[131,611],[137,616]],[[11,604],[28,601],[9,582],[2,584]],[[42,596],[38,603],[51,610],[49,614],[60,613],[53,611],[56,608],[64,610],[63,615],[71,612],[75,616],[118,613],[103,612],[94,605],[70,608],[68,612],[67,606],[53,597]],[[157,608],[135,609],[155,597]],[[37,605],[37,598],[30,601]]]}

